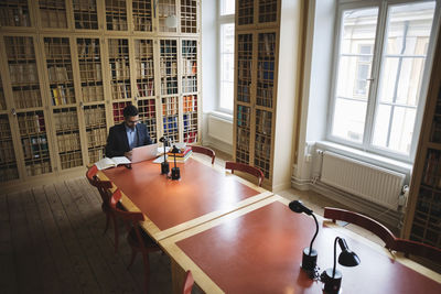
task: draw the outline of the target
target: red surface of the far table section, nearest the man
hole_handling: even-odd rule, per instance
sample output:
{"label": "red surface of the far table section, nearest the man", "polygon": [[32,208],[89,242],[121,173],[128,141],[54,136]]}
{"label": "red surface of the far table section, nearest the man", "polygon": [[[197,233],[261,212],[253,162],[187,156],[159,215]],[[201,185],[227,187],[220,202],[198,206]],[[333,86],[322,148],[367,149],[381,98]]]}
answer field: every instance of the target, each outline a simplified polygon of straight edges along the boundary
{"label": "red surface of the far table section, nearest the man", "polygon": [[[161,175],[151,161],[103,171],[160,230],[165,230],[260,194],[233,176],[189,159],[179,163],[181,179]],[[172,167],[172,166],[171,166]]]}

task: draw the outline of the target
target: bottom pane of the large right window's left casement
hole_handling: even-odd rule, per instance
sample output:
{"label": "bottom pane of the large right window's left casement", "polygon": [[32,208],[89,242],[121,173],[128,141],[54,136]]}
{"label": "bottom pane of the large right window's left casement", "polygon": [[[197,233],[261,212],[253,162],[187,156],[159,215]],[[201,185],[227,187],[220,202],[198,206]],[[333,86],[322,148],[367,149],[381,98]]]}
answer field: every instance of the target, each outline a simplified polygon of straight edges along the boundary
{"label": "bottom pane of the large right window's left casement", "polygon": [[332,133],[354,142],[363,142],[366,101],[336,99]]}

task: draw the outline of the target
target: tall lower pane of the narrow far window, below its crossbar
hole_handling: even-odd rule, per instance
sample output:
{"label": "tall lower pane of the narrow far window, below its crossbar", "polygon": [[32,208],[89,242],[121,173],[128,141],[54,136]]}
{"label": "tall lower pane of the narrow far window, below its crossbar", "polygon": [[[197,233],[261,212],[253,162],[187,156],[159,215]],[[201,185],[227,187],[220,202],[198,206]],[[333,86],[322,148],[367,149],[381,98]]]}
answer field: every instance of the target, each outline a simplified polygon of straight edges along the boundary
{"label": "tall lower pane of the narrow far window, below its crossbar", "polygon": [[219,108],[233,111],[234,99],[234,23],[220,25]]}

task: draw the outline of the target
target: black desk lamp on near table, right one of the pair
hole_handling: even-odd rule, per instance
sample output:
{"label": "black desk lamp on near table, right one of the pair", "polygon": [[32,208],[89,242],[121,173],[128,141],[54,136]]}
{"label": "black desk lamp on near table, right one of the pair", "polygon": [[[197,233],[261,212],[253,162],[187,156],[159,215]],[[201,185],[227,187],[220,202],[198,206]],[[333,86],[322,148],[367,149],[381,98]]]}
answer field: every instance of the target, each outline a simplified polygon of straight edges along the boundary
{"label": "black desk lamp on near table, right one of the pair", "polygon": [[351,251],[347,247],[346,240],[336,237],[334,240],[334,266],[323,271],[321,274],[321,281],[324,283],[323,292],[326,294],[337,294],[340,293],[340,287],[342,285],[342,272],[335,269],[336,265],[336,250],[337,241],[342,253],[338,255],[338,263],[344,266],[356,266],[359,264],[361,260],[355,252]]}

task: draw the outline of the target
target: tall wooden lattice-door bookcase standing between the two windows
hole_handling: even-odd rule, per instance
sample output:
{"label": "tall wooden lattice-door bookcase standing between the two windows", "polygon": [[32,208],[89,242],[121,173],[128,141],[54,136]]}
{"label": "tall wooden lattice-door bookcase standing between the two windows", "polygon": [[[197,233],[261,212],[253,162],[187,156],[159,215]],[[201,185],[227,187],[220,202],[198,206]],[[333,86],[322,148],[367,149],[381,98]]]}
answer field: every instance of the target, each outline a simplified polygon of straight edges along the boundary
{"label": "tall wooden lattice-door bookcase standing between the two windows", "polygon": [[236,1],[234,159],[260,168],[272,190],[291,185],[302,9],[302,1]]}

